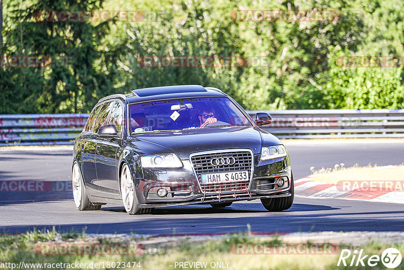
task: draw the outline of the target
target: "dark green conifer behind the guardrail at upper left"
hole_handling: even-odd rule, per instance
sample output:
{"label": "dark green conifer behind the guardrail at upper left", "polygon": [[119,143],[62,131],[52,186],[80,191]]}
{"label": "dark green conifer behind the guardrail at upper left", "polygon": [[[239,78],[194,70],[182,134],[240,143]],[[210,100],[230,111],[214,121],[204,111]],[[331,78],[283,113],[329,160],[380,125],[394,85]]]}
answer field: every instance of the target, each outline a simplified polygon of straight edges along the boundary
{"label": "dark green conifer behind the guardrail at upper left", "polygon": [[[114,93],[119,55],[105,50],[103,37],[109,22],[37,21],[41,11],[92,11],[102,8],[103,0],[46,0],[20,9],[16,5],[11,20],[19,22],[7,29],[7,55],[51,57],[52,65],[40,68],[5,68],[1,80],[3,95],[13,95],[13,103],[28,106],[10,109],[11,100],[3,100],[3,110],[32,113],[88,111],[99,96]],[[1,102],[1,101],[0,101]]]}

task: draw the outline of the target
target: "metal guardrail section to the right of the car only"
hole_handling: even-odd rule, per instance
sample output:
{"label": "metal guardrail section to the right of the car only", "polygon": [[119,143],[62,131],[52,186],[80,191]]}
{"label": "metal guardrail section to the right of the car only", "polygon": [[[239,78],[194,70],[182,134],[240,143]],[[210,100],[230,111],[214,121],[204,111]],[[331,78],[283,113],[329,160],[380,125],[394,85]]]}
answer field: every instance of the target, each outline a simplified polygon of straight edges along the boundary
{"label": "metal guardrail section to the right of the car only", "polygon": [[404,109],[267,112],[273,122],[264,129],[284,139],[404,138]]}

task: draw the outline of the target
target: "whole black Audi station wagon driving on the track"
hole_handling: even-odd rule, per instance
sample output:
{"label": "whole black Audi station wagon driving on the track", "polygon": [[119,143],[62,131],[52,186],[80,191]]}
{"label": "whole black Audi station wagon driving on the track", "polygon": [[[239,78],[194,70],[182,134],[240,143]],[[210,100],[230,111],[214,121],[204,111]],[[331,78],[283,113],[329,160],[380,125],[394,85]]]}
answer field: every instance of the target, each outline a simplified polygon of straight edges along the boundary
{"label": "whole black Audi station wagon driving on the track", "polygon": [[100,99],[74,142],[73,197],[79,210],[261,199],[269,211],[293,203],[293,175],[282,143],[232,98],[200,85],[136,89]]}

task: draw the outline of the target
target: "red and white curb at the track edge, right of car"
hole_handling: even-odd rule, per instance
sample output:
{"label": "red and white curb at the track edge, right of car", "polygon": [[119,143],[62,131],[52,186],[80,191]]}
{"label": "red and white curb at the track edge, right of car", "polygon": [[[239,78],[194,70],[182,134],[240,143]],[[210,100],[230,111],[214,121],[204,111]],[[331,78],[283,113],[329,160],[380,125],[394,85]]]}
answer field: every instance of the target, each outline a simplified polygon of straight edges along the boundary
{"label": "red and white curb at the track edge, right of car", "polygon": [[294,181],[294,193],[297,196],[314,199],[346,199],[371,202],[403,203],[404,191],[366,191],[359,187],[344,189],[342,186],[312,181],[310,176]]}

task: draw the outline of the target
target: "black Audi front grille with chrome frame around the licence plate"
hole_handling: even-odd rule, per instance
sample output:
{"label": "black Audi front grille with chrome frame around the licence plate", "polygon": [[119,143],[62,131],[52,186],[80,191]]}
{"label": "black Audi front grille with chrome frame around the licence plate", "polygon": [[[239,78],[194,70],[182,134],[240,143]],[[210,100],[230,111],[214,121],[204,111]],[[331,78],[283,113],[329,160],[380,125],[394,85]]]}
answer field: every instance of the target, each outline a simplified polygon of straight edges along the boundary
{"label": "black Audi front grille with chrome frame around the licence plate", "polygon": [[[213,158],[227,158],[234,157],[235,162],[232,165],[218,165],[211,164]],[[232,192],[232,191],[245,191],[249,185],[249,179],[251,178],[251,166],[252,166],[252,154],[248,150],[244,151],[228,151],[217,152],[209,154],[197,154],[191,157],[193,168],[195,169],[196,176],[202,191],[206,192]],[[201,174],[225,172],[225,171],[248,171],[248,181],[241,182],[228,182],[228,183],[215,183],[215,184],[202,184]]]}

